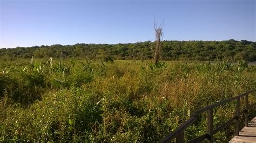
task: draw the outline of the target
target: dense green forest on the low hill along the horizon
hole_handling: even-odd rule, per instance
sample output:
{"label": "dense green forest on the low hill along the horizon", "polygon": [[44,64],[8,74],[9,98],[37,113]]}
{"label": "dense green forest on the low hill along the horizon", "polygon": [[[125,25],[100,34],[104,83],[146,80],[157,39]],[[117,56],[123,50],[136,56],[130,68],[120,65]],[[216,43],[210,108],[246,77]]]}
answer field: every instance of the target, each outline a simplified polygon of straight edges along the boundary
{"label": "dense green forest on the low hill along the horizon", "polygon": [[[150,60],[155,42],[128,44],[75,44],[0,49],[2,60],[15,58],[83,58],[115,60]],[[256,42],[234,39],[226,41],[162,41],[161,60],[247,60],[256,61]]]}

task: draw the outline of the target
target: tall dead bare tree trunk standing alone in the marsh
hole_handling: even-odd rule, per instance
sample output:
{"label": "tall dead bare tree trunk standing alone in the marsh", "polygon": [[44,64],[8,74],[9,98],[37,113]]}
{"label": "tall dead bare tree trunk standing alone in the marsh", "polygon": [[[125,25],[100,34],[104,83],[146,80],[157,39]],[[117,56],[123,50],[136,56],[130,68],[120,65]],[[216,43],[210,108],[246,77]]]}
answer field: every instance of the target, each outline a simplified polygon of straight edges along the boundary
{"label": "tall dead bare tree trunk standing alone in the marsh", "polygon": [[154,64],[157,65],[160,59],[160,52],[161,52],[161,37],[163,35],[162,33],[162,27],[164,25],[163,22],[157,26],[156,18],[154,18],[154,30],[156,31],[156,49],[154,49]]}

